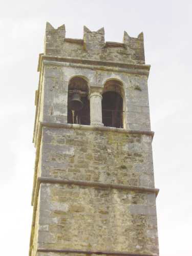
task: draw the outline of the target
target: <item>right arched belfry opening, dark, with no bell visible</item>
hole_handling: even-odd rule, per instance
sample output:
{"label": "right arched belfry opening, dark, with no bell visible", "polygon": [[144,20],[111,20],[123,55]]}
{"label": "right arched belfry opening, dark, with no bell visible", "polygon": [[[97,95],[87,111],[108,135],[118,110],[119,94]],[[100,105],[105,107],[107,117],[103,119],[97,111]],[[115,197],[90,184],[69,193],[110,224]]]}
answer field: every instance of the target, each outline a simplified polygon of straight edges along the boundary
{"label": "right arched belfry opening, dark, with no bell visible", "polygon": [[104,126],[123,128],[122,84],[116,80],[105,83],[102,94],[102,122]]}

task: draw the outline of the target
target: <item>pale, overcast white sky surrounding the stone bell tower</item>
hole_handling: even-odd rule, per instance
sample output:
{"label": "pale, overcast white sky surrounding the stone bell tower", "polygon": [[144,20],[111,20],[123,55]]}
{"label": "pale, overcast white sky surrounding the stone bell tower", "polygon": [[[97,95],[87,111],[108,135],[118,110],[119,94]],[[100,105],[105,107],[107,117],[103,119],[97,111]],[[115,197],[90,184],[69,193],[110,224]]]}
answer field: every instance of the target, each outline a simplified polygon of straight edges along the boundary
{"label": "pale, overcast white sky surrounding the stone bell tower", "polygon": [[123,31],[144,32],[157,198],[160,256],[191,256],[191,1],[2,1],[1,255],[28,255],[35,150],[32,144],[37,60],[46,21],[66,24],[82,38],[83,25],[104,26],[106,41]]}

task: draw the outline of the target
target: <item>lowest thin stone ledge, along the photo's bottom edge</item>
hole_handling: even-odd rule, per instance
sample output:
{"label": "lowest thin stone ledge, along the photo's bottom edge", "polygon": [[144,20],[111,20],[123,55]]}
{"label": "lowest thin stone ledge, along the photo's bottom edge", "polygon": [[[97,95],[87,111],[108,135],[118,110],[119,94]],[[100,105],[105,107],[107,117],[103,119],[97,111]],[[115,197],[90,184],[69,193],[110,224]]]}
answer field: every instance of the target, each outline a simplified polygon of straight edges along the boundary
{"label": "lowest thin stone ledge, along the photo's bottom edge", "polygon": [[84,250],[73,250],[73,249],[64,249],[64,250],[55,250],[55,249],[37,249],[37,252],[58,252],[58,253],[83,253],[83,254],[105,254],[105,255],[119,255],[119,256],[158,256],[157,254],[138,254],[138,253],[129,253],[129,252],[120,252],[120,251],[84,251]]}

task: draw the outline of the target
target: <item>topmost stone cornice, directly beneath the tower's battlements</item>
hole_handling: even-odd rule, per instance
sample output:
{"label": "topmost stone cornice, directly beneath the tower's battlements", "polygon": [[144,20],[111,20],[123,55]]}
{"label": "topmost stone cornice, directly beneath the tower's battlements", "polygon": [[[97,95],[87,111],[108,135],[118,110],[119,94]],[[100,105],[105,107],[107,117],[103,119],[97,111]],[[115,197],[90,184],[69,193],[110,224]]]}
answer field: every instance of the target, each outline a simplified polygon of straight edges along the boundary
{"label": "topmost stone cornice, directly beneath the tower's battlements", "polygon": [[90,59],[77,59],[77,58],[61,58],[54,56],[46,56],[44,54],[39,54],[38,68],[37,71],[41,70],[42,63],[44,65],[53,66],[70,66],[70,67],[83,67],[92,70],[102,70],[105,71],[116,71],[128,74],[139,74],[146,75],[150,72],[150,65],[138,65],[138,64],[128,64],[122,62],[113,61],[101,61],[101,60],[90,60]]}

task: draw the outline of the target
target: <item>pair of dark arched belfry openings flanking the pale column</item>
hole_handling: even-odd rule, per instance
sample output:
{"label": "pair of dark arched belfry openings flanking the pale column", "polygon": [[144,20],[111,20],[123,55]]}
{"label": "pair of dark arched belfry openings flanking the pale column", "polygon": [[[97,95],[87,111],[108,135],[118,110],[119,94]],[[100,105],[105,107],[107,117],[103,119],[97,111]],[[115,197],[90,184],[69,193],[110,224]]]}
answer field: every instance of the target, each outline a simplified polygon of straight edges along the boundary
{"label": "pair of dark arched belfry openings flanking the pale column", "polygon": [[[90,125],[89,88],[82,77],[74,77],[69,82],[68,123]],[[123,87],[117,80],[109,80],[104,85],[102,123],[104,126],[123,128]]]}

